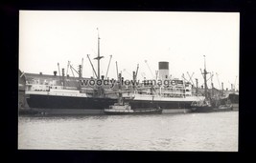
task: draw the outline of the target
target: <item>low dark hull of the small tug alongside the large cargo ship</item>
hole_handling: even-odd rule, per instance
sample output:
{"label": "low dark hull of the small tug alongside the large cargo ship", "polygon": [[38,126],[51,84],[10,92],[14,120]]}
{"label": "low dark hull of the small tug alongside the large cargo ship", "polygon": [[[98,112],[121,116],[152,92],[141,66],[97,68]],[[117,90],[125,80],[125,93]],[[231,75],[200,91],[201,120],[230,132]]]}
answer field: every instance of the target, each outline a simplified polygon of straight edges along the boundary
{"label": "low dark hull of the small tug alongside the large cargo ship", "polygon": [[134,112],[105,112],[108,115],[160,114],[163,110],[135,110]]}

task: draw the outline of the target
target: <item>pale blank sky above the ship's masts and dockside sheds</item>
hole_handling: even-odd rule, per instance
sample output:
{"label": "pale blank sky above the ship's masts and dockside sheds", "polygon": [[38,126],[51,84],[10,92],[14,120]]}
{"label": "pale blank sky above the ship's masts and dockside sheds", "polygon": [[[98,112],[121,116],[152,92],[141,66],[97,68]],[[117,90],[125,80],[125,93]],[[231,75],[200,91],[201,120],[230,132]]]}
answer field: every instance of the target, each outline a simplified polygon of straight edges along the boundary
{"label": "pale blank sky above the ship's masts and dockside sheds", "polygon": [[101,75],[112,55],[109,78],[116,78],[116,61],[125,79],[139,64],[140,80],[155,78],[158,62],[167,61],[172,77],[194,73],[202,85],[205,55],[214,86],[239,89],[239,12],[20,10],[19,69],[53,74],[58,63],[77,69],[83,58],[82,76],[90,77],[87,54],[97,71],[98,33]]}

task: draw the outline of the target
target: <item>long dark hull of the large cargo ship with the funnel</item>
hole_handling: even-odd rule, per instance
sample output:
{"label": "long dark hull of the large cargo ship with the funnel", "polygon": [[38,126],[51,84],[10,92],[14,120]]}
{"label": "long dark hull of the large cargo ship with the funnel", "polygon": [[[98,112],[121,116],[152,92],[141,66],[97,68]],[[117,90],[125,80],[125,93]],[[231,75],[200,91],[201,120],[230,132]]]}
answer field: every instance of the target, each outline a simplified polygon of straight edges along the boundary
{"label": "long dark hull of the large cargo ship with the funnel", "polygon": [[[27,95],[27,103],[30,111],[49,114],[102,114],[104,109],[117,102],[113,98],[100,97],[75,97],[58,95]],[[161,108],[165,112],[183,112],[190,109],[192,101],[149,101],[131,100],[128,101],[131,109]]]}

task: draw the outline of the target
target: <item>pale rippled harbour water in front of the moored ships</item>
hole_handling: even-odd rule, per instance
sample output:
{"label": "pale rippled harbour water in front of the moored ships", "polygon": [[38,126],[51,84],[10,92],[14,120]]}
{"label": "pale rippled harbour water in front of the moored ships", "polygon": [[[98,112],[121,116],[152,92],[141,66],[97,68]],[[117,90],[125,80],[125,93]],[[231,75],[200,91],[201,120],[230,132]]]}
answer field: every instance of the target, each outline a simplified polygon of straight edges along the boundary
{"label": "pale rippled harbour water in front of the moored ships", "polygon": [[19,116],[18,149],[237,152],[239,112]]}

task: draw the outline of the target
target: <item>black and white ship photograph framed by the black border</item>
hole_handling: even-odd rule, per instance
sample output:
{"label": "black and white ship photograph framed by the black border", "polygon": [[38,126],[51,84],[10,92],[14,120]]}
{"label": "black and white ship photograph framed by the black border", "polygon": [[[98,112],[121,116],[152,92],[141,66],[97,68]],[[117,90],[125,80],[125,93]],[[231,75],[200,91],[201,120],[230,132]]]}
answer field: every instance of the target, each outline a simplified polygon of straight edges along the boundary
{"label": "black and white ship photograph framed by the black border", "polygon": [[239,151],[240,12],[19,10],[18,150]]}

